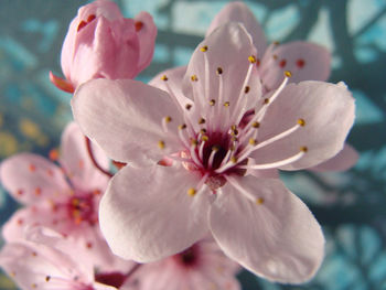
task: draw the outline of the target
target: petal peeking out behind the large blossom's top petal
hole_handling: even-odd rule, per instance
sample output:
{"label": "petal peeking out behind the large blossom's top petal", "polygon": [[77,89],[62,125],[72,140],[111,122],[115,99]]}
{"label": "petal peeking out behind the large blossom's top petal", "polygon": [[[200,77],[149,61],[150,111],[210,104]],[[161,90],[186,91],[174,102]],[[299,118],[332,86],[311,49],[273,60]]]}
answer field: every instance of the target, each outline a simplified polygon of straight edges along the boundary
{"label": "petal peeking out behind the large blossom's top petal", "polygon": [[240,22],[244,24],[254,40],[257,53],[260,55],[259,57],[261,57],[267,47],[264,31],[257,22],[254,13],[243,2],[232,2],[225,6],[223,10],[219,11],[219,13],[213,19],[208,30],[206,31],[206,36],[208,36],[219,25],[230,21]]}

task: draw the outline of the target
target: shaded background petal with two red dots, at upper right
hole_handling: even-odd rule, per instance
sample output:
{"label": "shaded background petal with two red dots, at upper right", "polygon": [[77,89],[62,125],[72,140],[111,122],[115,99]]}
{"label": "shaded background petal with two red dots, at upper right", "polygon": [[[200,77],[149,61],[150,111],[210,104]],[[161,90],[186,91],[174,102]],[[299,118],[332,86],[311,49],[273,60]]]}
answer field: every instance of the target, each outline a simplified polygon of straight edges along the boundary
{"label": "shaded background petal with two red dots, at upper right", "polygon": [[266,90],[279,87],[285,71],[291,72],[291,83],[326,80],[331,71],[331,54],[321,45],[300,41],[276,46],[264,55],[259,67]]}

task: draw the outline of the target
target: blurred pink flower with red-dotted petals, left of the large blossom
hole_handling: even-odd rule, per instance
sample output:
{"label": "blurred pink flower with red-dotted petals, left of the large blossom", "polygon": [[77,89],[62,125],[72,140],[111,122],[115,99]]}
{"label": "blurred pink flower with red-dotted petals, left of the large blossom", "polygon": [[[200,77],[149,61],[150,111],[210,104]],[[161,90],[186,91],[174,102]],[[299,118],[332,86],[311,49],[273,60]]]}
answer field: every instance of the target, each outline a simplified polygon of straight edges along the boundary
{"label": "blurred pink flower with red-dotted petals, left of the large blossom", "polygon": [[[99,164],[107,168],[109,161],[103,151],[97,147],[93,151]],[[100,255],[108,247],[99,232],[97,212],[108,178],[89,160],[85,137],[75,122],[62,136],[60,163],[62,168],[31,153],[20,153],[1,163],[2,185],[26,205],[4,224],[3,237],[13,241],[23,237],[26,226],[46,226],[71,235],[93,258],[108,264],[108,255]]]}

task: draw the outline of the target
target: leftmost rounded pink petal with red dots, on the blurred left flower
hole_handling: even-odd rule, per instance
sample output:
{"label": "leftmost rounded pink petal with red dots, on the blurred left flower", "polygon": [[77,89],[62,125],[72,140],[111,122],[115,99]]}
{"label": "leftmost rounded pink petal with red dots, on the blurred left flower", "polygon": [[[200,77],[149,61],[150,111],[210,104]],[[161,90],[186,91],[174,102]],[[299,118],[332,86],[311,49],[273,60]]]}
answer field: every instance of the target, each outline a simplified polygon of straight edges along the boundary
{"label": "leftmost rounded pink petal with red dots, on the blurred left flower", "polygon": [[14,198],[26,204],[39,203],[69,192],[58,167],[30,153],[20,153],[6,159],[0,167],[0,180]]}

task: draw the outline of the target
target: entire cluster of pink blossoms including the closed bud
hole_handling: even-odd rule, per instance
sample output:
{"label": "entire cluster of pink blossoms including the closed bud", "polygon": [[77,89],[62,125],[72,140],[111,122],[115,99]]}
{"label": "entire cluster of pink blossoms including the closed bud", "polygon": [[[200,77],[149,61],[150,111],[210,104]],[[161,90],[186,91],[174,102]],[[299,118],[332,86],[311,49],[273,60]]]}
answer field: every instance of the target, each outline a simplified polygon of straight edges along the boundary
{"label": "entire cluster of pink blossoms including the closed bud", "polygon": [[268,45],[250,10],[232,2],[187,66],[133,80],[156,35],[147,12],[125,19],[107,0],[78,10],[65,79],[50,75],[75,92],[77,123],[52,161],[1,163],[1,183],[24,207],[3,226],[0,266],[22,289],[238,290],[240,266],[310,280],[323,233],[278,173],[357,159],[345,144],[354,100],[344,83],[325,83],[329,52]]}

